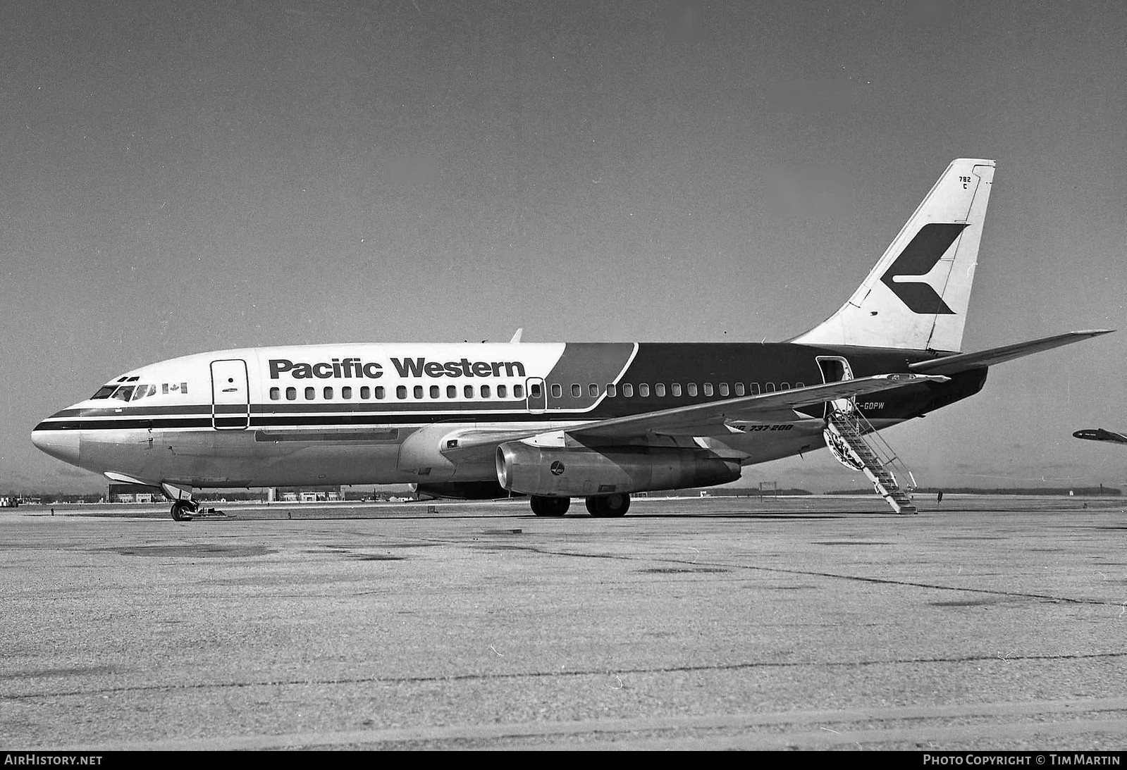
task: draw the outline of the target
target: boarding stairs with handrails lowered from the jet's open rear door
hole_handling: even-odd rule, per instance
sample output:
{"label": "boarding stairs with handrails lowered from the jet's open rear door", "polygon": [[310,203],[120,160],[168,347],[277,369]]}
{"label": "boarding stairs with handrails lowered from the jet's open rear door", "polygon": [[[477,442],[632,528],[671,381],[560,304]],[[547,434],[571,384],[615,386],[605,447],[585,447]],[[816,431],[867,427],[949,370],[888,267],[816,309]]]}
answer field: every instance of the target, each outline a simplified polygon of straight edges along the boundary
{"label": "boarding stairs with handrails lowered from the jet's open rear door", "polygon": [[894,511],[904,514],[916,512],[912,496],[897,483],[891,468],[896,467],[902,478],[912,480],[914,486],[912,472],[900,463],[893,448],[855,406],[850,404],[846,409],[832,409],[826,415],[826,433],[827,439],[832,440],[833,437],[840,439],[833,447],[838,459],[864,472],[877,494],[882,496]]}

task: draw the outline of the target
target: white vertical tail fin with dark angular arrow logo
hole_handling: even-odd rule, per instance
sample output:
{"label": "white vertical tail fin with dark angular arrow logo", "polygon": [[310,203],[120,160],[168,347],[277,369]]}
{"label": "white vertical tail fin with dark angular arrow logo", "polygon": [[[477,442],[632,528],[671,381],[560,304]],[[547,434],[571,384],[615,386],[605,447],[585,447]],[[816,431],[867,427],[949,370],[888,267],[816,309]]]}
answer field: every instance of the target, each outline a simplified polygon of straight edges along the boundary
{"label": "white vertical tail fin with dark angular arrow logo", "polygon": [[849,302],[791,342],[959,351],[994,161],[951,161]]}

